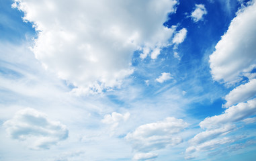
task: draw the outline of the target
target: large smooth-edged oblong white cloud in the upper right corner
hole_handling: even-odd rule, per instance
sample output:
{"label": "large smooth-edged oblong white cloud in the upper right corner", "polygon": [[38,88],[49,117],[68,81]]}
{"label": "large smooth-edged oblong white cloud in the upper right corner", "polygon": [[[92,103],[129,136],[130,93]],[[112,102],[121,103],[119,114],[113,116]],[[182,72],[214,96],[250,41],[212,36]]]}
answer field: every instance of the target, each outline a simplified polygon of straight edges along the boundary
{"label": "large smooth-edged oblong white cloud in the upper right corner", "polygon": [[256,4],[243,8],[232,19],[228,31],[210,55],[214,80],[233,84],[241,80],[243,72],[256,64]]}

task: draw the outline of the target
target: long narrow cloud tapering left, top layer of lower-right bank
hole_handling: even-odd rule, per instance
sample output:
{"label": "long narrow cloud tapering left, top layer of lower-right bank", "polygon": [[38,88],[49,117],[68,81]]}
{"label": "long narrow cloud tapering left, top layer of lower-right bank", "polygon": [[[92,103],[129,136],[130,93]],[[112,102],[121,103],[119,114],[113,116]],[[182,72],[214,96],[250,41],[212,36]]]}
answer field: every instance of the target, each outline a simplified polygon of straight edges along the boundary
{"label": "long narrow cloud tapering left, top layer of lower-right bank", "polygon": [[226,123],[241,121],[246,117],[256,114],[256,99],[251,99],[246,103],[239,103],[225,110],[221,115],[207,117],[200,122],[202,128],[214,128]]}

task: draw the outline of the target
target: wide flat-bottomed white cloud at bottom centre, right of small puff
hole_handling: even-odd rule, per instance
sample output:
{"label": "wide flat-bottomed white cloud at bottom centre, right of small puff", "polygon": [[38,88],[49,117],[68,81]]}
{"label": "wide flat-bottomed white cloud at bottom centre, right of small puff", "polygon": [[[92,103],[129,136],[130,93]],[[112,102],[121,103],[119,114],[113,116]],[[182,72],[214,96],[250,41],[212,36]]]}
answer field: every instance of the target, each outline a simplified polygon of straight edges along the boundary
{"label": "wide flat-bottomed white cloud at bottom centre, right of small puff", "polygon": [[125,137],[137,151],[151,151],[180,144],[183,140],[175,135],[187,127],[182,119],[167,117],[164,121],[140,125]]}

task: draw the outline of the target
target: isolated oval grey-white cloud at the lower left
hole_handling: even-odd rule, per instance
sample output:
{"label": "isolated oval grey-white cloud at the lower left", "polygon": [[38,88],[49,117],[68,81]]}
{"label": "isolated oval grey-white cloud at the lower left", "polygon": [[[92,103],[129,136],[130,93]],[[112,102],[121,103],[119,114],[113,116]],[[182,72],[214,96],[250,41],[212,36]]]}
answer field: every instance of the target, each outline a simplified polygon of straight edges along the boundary
{"label": "isolated oval grey-white cloud at the lower left", "polygon": [[48,149],[68,137],[69,131],[58,121],[50,121],[35,109],[17,111],[12,119],[3,123],[11,138],[28,142],[32,149]]}

